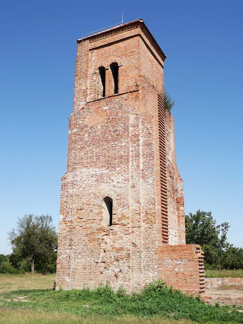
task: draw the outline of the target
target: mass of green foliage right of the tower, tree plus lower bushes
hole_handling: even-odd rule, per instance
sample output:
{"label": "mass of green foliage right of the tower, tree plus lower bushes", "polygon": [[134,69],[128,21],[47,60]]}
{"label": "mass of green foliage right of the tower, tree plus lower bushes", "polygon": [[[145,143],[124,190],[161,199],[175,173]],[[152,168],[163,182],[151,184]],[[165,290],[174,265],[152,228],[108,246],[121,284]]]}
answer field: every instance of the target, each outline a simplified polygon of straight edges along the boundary
{"label": "mass of green foliage right of the tower, tree plus lower bushes", "polygon": [[230,227],[225,222],[217,225],[211,212],[198,210],[185,216],[186,243],[198,244],[205,253],[205,263],[213,268],[243,268],[243,249],[227,241]]}

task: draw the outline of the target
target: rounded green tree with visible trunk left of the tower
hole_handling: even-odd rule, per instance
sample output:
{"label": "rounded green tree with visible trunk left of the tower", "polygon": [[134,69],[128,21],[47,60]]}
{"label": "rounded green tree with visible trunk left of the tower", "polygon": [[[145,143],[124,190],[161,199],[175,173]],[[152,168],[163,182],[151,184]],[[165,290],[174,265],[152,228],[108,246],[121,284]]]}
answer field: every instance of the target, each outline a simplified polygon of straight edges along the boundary
{"label": "rounded green tree with visible trunk left of the tower", "polygon": [[[57,233],[49,215],[24,215],[9,233],[13,249],[10,261],[17,267],[31,267],[32,273],[53,272],[56,260]],[[51,270],[51,271],[50,271]]]}

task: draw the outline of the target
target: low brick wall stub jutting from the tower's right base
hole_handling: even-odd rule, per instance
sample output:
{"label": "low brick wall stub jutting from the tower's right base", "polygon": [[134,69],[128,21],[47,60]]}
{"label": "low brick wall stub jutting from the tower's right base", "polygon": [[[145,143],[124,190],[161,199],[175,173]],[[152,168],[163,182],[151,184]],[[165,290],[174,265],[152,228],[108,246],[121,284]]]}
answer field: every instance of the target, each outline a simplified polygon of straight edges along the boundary
{"label": "low brick wall stub jutting from the tower's right base", "polygon": [[204,293],[204,253],[200,246],[160,247],[158,277],[182,292],[193,295]]}

